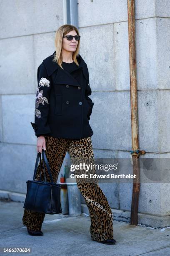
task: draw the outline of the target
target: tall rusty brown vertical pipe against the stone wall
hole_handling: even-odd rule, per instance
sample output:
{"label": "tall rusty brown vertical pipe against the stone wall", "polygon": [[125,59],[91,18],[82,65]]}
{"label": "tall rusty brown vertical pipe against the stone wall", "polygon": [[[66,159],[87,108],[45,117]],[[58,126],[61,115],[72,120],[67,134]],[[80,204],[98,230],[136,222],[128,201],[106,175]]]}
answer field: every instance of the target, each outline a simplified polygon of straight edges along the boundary
{"label": "tall rusty brown vertical pipe against the stone wall", "polygon": [[132,154],[133,158],[133,195],[131,204],[130,225],[138,224],[138,202],[140,193],[140,154],[145,154],[139,149],[138,141],[138,97],[136,81],[136,48],[135,48],[135,0],[128,0],[128,36],[129,36],[129,65],[130,65],[130,106],[132,129]]}

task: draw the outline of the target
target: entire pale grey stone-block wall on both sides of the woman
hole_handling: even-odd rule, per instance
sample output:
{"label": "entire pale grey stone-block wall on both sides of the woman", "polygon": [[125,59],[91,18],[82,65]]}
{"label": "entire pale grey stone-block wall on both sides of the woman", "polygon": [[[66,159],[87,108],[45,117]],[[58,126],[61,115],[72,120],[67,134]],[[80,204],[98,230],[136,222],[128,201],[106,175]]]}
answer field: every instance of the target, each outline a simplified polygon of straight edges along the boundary
{"label": "entire pale grey stone-block wall on both sides of the woman", "polygon": [[[62,0],[7,2],[0,0],[0,189],[25,193],[36,156],[30,122],[37,66],[53,53],[65,10]],[[169,158],[170,2],[143,2],[135,1],[139,143],[146,151],[141,158]],[[90,118],[95,158],[129,158],[132,149],[127,10],[127,0],[78,1],[80,54],[95,102]],[[100,187],[115,216],[129,220],[132,184]],[[141,184],[141,223],[170,225],[169,194],[169,184]]]}

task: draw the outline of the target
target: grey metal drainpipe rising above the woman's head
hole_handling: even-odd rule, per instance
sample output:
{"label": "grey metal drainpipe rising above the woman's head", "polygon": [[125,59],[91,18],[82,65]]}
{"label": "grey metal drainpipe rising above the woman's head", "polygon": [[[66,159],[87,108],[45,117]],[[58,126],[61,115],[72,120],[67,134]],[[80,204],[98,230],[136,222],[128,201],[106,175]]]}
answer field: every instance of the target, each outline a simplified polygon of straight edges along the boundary
{"label": "grey metal drainpipe rising above the woman's head", "polygon": [[77,0],[63,0],[64,24],[78,28],[78,3]]}

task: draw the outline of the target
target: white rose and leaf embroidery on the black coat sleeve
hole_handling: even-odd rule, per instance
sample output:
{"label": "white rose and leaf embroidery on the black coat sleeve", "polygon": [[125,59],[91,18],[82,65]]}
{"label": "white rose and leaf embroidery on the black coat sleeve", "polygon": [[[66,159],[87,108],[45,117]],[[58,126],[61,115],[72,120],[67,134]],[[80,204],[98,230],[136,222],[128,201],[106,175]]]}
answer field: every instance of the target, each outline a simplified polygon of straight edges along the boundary
{"label": "white rose and leaf embroidery on the black coat sleeve", "polygon": [[49,104],[48,99],[46,97],[42,97],[43,90],[41,90],[39,92],[39,89],[40,89],[41,86],[49,87],[50,86],[50,81],[47,80],[44,77],[42,77],[40,79],[39,86],[37,88],[37,93],[36,93],[36,100],[35,100],[35,115],[36,115],[37,118],[41,118],[41,112],[40,112],[40,110],[37,109],[39,104],[42,103],[42,105],[45,105],[45,102],[47,104]]}

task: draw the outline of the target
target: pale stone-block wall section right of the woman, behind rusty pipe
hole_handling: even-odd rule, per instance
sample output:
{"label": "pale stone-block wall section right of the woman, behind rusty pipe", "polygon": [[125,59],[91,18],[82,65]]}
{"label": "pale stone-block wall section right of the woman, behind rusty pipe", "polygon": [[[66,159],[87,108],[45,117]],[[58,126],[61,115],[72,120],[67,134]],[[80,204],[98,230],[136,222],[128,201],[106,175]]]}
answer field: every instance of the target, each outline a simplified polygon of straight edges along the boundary
{"label": "pale stone-block wall section right of the woman, behind rusty pipe", "polygon": [[[139,144],[146,151],[140,157],[169,158],[170,2],[135,3]],[[90,70],[95,102],[90,119],[95,158],[130,158],[132,150],[127,9],[127,0],[78,4],[80,53]],[[132,184],[100,187],[121,218],[125,211],[130,215]],[[170,184],[141,184],[139,212],[159,216],[159,221],[154,216],[141,222],[169,226],[169,195]]]}

